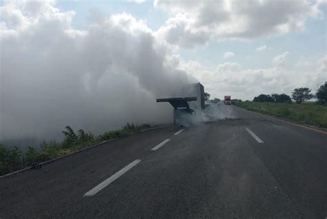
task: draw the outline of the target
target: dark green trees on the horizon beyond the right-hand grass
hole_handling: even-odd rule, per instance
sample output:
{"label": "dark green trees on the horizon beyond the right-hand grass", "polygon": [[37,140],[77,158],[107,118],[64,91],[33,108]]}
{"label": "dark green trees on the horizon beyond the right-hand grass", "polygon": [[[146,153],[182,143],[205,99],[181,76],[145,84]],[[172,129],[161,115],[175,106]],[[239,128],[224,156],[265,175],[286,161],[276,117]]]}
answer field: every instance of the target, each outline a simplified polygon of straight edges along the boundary
{"label": "dark green trees on the horizon beyond the right-hand grass", "polygon": [[260,94],[253,98],[254,102],[270,102],[270,103],[295,103],[301,104],[304,101],[312,98],[317,98],[317,103],[320,105],[327,105],[327,81],[321,85],[316,94],[312,94],[308,87],[298,87],[292,92],[292,98],[287,94]]}

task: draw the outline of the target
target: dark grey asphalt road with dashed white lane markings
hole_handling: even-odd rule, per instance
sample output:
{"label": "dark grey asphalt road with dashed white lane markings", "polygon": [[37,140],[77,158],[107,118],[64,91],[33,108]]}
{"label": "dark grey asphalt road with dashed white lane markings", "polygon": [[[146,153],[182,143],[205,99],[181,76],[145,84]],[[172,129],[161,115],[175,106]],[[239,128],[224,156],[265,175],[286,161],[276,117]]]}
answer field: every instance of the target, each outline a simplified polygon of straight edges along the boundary
{"label": "dark grey asphalt road with dashed white lane markings", "polygon": [[1,178],[0,218],[327,217],[327,134],[217,110]]}

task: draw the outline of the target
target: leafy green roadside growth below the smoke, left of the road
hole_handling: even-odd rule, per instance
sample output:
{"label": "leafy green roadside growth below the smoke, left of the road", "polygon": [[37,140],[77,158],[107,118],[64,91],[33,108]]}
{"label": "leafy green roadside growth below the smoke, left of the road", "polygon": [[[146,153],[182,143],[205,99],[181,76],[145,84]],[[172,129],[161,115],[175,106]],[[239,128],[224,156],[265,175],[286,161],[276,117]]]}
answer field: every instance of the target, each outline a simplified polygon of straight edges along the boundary
{"label": "leafy green roadside growth below the smoke, left of the road", "polygon": [[84,132],[83,129],[79,129],[77,134],[69,127],[66,127],[66,131],[63,131],[65,136],[64,140],[60,143],[49,140],[43,141],[40,149],[34,147],[28,147],[26,153],[21,152],[17,147],[14,149],[6,149],[0,144],[0,176],[8,174],[12,171],[28,167],[35,163],[41,163],[46,160],[51,160],[77,152],[81,149],[95,145],[106,140],[128,136],[141,129],[150,127],[150,125],[134,125],[127,123],[121,129],[105,132],[99,136],[94,136],[90,132]]}

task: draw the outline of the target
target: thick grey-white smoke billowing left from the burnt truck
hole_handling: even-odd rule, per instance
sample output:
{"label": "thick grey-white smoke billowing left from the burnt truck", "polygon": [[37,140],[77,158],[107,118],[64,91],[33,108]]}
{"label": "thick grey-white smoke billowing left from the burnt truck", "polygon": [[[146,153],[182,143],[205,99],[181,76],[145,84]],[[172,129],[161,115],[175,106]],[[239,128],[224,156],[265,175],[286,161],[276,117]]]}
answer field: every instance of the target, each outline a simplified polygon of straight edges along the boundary
{"label": "thick grey-white smoke billowing left from the burnt truck", "polygon": [[58,139],[66,125],[99,134],[171,122],[172,107],[155,98],[194,82],[129,14],[84,30],[52,2],[8,2],[0,14],[0,140]]}

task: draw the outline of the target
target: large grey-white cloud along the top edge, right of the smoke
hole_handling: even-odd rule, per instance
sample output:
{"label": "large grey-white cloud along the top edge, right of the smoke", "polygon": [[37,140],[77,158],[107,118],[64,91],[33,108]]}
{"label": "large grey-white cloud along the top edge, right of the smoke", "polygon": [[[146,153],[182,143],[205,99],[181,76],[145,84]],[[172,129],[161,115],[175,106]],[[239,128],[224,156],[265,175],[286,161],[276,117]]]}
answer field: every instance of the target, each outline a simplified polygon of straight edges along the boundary
{"label": "large grey-white cloud along the top edge, right of the smoke", "polygon": [[322,2],[299,1],[164,1],[155,7],[172,17],[158,32],[184,48],[220,39],[255,39],[302,30],[310,17],[323,17]]}

